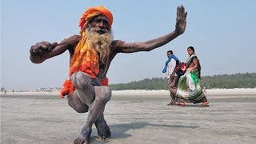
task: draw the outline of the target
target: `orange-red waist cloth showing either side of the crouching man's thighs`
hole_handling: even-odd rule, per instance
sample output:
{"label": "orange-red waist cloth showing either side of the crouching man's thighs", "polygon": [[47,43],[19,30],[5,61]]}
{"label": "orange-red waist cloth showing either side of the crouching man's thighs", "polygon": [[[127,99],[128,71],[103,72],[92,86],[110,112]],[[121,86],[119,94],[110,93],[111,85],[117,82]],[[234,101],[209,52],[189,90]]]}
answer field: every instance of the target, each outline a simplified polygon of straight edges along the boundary
{"label": "orange-red waist cloth showing either side of the crouching man's thighs", "polygon": [[[102,83],[103,86],[108,86],[109,79],[104,78],[100,82]],[[63,88],[62,88],[61,92],[59,93],[59,96],[61,98],[64,98],[65,95],[73,94],[74,90],[76,90],[76,88],[74,87],[73,83],[70,80],[66,80],[63,84]]]}

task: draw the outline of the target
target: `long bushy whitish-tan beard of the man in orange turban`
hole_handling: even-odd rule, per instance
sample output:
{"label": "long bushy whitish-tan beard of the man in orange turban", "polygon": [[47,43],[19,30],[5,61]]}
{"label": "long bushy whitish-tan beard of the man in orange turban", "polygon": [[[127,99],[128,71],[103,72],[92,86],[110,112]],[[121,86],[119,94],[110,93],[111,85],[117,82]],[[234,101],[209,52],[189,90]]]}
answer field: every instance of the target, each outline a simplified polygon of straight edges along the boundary
{"label": "long bushy whitish-tan beard of the man in orange turban", "polygon": [[103,34],[99,34],[100,28],[86,28],[86,40],[90,48],[95,47],[99,54],[99,61],[106,63],[106,58],[110,54],[111,42],[113,42],[113,34],[108,30]]}

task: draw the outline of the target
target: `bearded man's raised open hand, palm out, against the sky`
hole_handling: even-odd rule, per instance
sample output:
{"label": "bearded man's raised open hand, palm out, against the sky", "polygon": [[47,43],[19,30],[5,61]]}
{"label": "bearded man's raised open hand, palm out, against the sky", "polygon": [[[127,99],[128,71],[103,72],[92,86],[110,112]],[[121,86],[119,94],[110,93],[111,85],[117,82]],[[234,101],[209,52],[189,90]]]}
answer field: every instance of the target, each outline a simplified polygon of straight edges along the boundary
{"label": "bearded man's raised open hand, palm out, against the sky", "polygon": [[186,14],[184,6],[177,7],[177,18],[176,18],[176,26],[175,31],[178,34],[183,34],[186,30]]}

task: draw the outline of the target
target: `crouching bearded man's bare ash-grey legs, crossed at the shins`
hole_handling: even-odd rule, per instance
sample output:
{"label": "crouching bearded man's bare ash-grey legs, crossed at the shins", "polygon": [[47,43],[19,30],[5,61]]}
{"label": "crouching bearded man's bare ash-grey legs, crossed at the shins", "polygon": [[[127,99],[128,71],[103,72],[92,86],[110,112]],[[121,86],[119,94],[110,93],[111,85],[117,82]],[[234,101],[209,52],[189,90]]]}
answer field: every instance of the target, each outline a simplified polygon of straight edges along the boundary
{"label": "crouching bearded man's bare ash-grey legs, crossed at the shins", "polygon": [[[104,130],[110,131],[109,126],[106,125],[106,121],[104,120],[104,117],[103,117],[103,112],[106,106],[106,102],[108,102],[111,97],[110,88],[108,86],[93,86],[90,76],[82,72],[73,74],[71,76],[71,80],[74,86],[77,88],[77,90],[75,91],[77,92],[77,98],[80,99],[80,102],[76,102],[76,104],[80,106],[84,106],[82,104],[83,102],[86,104],[86,106],[89,106],[86,124],[82,128],[81,134],[78,136],[78,138],[74,140],[74,143],[83,143],[83,142],[89,143],[91,127],[94,124],[94,122],[96,122],[96,120],[98,120],[98,122],[95,123],[96,127],[98,128],[98,134],[106,134],[104,137],[105,138],[108,137],[110,133],[107,133],[107,132],[104,133],[101,131],[104,131]],[[78,99],[72,99],[72,100],[78,101]],[[71,101],[71,98],[69,100],[69,104],[71,107],[77,108],[76,106],[72,106],[74,102]],[[86,109],[77,108],[76,110],[85,111]],[[100,125],[101,123],[102,125]]]}

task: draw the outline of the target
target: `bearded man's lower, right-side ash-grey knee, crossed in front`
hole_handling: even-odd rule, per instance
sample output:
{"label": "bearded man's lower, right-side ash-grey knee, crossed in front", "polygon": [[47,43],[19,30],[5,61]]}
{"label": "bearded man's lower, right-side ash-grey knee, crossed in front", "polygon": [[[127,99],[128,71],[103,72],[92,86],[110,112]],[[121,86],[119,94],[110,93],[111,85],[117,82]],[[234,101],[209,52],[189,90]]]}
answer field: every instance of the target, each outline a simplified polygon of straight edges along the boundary
{"label": "bearded man's lower, right-side ash-grey knee, crossed in front", "polygon": [[98,86],[95,87],[96,98],[98,102],[106,103],[110,101],[111,90],[109,86]]}

